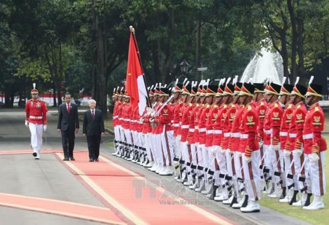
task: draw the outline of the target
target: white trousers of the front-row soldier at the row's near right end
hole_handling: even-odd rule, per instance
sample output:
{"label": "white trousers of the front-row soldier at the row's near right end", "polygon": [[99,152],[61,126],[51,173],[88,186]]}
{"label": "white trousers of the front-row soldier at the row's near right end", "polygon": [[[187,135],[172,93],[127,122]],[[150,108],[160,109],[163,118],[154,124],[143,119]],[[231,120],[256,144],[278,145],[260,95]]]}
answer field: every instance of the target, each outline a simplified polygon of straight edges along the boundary
{"label": "white trousers of the front-row soldier at the row's near right end", "polygon": [[259,150],[251,153],[251,161],[248,163],[246,157],[242,155],[243,171],[246,181],[246,191],[249,199],[252,201],[261,199],[261,170],[259,162],[261,160],[261,153]]}

